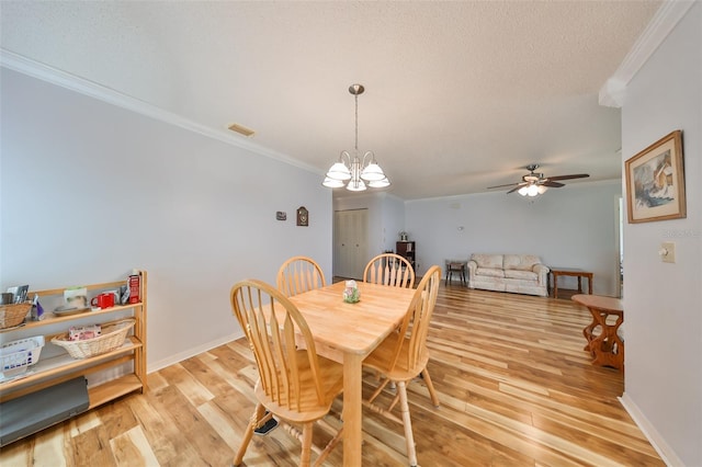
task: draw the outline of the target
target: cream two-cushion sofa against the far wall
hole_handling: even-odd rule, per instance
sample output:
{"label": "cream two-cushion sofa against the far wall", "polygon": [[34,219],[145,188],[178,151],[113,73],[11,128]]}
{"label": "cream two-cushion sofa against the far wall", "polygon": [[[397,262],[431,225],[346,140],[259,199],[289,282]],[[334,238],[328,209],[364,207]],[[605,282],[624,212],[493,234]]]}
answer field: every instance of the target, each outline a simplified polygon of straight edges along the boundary
{"label": "cream two-cushion sofa against the far wall", "polygon": [[533,254],[473,254],[468,287],[546,297],[548,271]]}

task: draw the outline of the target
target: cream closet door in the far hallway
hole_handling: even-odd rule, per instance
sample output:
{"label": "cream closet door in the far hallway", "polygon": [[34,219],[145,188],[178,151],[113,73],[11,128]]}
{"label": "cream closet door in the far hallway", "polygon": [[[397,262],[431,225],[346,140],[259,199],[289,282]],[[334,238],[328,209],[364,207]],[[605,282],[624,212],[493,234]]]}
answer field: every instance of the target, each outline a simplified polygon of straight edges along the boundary
{"label": "cream closet door in the far hallway", "polygon": [[333,275],[363,278],[367,263],[369,210],[333,213]]}

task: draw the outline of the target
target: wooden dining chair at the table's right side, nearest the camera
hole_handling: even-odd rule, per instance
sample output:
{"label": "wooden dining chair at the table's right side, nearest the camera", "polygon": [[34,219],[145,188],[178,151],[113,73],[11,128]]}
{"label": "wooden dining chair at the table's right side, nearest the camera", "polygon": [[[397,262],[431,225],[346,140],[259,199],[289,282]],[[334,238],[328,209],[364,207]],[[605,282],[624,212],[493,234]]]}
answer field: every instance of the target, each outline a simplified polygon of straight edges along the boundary
{"label": "wooden dining chair at the table's right side, nearest the camera", "polygon": [[[407,383],[422,374],[427,368],[427,362],[429,361],[427,334],[429,332],[429,321],[437,305],[440,284],[441,267],[431,266],[415,292],[399,332],[393,332],[388,335],[363,361],[365,368],[380,372],[384,377],[383,383],[367,400],[363,401],[363,405],[372,411],[405,426],[407,457],[410,466],[417,465],[417,453],[409,417],[409,405],[407,403]],[[397,394],[390,401],[389,407],[384,408],[378,406],[375,400],[389,381],[397,385]],[[433,385],[429,374],[424,375],[424,383],[430,394],[433,392]],[[393,409],[398,401],[401,419],[393,413]]]}

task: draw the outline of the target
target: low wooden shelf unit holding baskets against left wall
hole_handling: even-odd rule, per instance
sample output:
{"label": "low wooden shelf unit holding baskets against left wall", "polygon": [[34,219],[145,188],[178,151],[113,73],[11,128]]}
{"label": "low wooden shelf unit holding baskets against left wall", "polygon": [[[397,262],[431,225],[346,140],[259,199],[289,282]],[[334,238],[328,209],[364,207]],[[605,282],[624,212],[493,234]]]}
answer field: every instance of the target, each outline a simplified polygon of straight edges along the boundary
{"label": "low wooden shelf unit holding baskets against left wall", "polygon": [[[106,324],[111,322],[111,315],[124,311],[131,311],[131,318],[135,319],[134,328],[131,335],[124,341],[124,344],[113,350],[112,352],[103,353],[89,358],[73,358],[65,350],[63,353],[44,357],[44,350],[36,364],[29,367],[27,373],[15,379],[10,379],[4,383],[0,383],[0,401],[22,397],[37,390],[57,385],[59,383],[72,379],[77,376],[86,376],[94,374],[105,369],[123,365],[125,363],[133,363],[133,371],[126,375],[118,376],[116,378],[99,383],[88,388],[88,397],[90,400],[89,409],[109,402],[129,392],[147,390],[146,383],[146,298],[147,298],[147,274],[146,271],[139,271],[139,298],[137,304],[117,305],[111,308],[105,308],[95,311],[86,311],[70,316],[56,316],[52,312],[47,312],[46,317],[41,321],[27,321],[20,328],[0,330],[2,334],[10,334],[10,339],[3,339],[3,341],[12,341],[12,333],[22,332],[26,334],[27,330],[36,330],[34,335],[42,334],[42,331],[46,331],[46,328],[52,324],[65,323],[66,330],[70,327],[72,321],[90,318],[91,322]],[[87,285],[86,288],[90,293],[91,291],[102,292],[109,289],[118,288],[126,284],[125,281],[105,282],[100,284]],[[61,296],[64,288],[55,288],[48,291],[34,291],[27,294],[29,297],[34,295],[41,297],[48,296]],[[44,329],[43,329],[44,328]],[[56,333],[42,334],[44,335],[45,346],[56,345],[50,343],[52,338],[56,337]],[[3,335],[7,338],[8,335]]]}

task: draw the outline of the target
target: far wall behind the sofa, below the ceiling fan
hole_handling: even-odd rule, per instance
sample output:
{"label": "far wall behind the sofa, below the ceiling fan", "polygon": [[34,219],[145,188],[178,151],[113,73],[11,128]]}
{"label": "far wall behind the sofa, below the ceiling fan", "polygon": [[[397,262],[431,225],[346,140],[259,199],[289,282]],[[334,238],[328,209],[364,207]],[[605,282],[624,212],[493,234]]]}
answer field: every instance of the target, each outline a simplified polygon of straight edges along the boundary
{"label": "far wall behind the sofa, below the ceiling fan", "polygon": [[[406,203],[406,223],[426,271],[472,253],[529,253],[595,274],[593,292],[616,295],[621,183],[580,182],[532,200],[503,191]],[[564,288],[576,288],[574,277]],[[562,281],[558,281],[562,286]]]}

